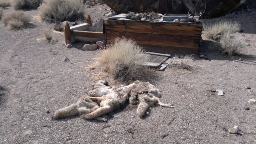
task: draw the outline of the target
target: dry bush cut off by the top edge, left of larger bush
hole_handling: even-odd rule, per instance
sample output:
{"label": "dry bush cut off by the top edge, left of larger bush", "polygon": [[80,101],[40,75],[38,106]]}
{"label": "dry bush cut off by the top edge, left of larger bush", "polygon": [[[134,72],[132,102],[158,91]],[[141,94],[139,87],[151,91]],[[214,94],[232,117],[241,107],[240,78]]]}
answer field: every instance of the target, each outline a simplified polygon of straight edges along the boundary
{"label": "dry bush cut off by the top edge, left of larger bush", "polygon": [[43,0],[12,0],[12,6],[15,10],[35,9]]}

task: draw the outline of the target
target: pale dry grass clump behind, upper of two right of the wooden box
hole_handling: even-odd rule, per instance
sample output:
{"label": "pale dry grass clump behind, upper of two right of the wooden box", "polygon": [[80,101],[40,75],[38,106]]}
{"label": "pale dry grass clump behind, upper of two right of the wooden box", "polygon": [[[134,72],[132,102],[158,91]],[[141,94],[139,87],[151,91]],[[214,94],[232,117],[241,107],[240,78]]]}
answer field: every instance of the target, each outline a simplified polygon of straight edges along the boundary
{"label": "pale dry grass clump behind, upper of two right of the wooden box", "polygon": [[231,22],[222,20],[214,24],[203,24],[204,30],[208,33],[207,38],[214,39],[215,36],[223,34],[232,34],[240,30],[240,24],[238,22]]}

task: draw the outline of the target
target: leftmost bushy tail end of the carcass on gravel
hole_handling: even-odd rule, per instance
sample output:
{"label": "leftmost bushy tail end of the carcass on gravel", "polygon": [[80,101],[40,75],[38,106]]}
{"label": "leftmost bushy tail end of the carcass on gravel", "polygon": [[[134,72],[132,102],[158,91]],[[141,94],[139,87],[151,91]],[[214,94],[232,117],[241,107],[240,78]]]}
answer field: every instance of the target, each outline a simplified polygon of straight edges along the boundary
{"label": "leftmost bushy tail end of the carcass on gravel", "polygon": [[69,116],[75,116],[77,114],[78,114],[78,105],[71,104],[70,106],[61,108],[56,112],[54,112],[54,114],[52,115],[52,120],[56,120],[58,118],[67,118]]}

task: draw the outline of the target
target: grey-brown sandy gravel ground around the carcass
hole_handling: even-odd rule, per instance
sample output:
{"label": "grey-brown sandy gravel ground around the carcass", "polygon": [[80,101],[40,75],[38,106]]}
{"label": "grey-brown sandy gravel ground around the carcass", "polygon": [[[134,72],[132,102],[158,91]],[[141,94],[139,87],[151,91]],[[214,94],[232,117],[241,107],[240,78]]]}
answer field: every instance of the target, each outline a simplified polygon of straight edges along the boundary
{"label": "grey-brown sandy gravel ground around the carcass", "polygon": [[[86,11],[92,20],[98,20],[106,18],[102,16],[105,8],[105,4],[96,5]],[[4,13],[10,11],[12,7]],[[37,10],[26,13],[34,16],[31,28],[17,31],[0,25],[0,144],[256,143],[256,104],[247,102],[256,98],[256,18],[250,13],[232,19],[242,23],[243,32],[237,34],[246,39],[242,55],[218,54],[208,48],[210,41],[203,34],[200,50],[209,60],[194,56],[191,64],[198,72],[174,65],[158,72],[160,78],[154,85],[162,90],[161,101],[174,104],[174,109],[155,106],[140,119],[136,106],[126,104],[108,114],[107,123],[80,117],[51,120],[54,111],[91,89],[92,73],[99,69],[86,71],[85,67],[102,50],[82,51],[82,42],[65,48],[64,35],[53,31],[58,42],[38,41],[44,37],[41,30],[52,30],[53,24],[40,22]],[[63,62],[64,57],[70,61]],[[223,90],[224,96],[208,91],[216,89]],[[244,110],[242,104],[250,110]],[[239,126],[240,134],[228,132],[234,126]]]}

